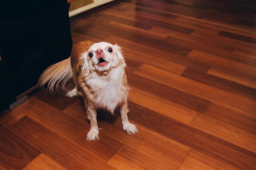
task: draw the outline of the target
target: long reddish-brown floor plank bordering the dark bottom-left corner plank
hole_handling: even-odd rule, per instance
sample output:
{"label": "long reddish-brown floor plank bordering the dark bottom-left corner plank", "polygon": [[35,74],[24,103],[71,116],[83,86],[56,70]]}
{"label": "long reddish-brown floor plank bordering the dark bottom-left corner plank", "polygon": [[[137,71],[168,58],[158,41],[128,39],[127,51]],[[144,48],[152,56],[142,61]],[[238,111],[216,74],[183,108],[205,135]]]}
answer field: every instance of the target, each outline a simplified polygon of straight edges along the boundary
{"label": "long reddish-brown floor plank bordering the dark bottom-left corner plank", "polygon": [[66,169],[113,169],[90,155],[83,147],[68,142],[28,116],[13,124],[10,129]]}

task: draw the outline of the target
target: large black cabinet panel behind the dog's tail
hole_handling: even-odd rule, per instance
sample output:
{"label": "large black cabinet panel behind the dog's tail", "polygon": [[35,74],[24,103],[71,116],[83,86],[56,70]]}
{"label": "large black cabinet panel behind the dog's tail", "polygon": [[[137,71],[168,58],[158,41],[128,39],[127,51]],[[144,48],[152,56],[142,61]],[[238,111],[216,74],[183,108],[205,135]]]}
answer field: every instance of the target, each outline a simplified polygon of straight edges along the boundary
{"label": "large black cabinet panel behind the dog's tail", "polygon": [[36,85],[49,65],[70,56],[68,7],[65,0],[0,3],[0,54],[15,96]]}

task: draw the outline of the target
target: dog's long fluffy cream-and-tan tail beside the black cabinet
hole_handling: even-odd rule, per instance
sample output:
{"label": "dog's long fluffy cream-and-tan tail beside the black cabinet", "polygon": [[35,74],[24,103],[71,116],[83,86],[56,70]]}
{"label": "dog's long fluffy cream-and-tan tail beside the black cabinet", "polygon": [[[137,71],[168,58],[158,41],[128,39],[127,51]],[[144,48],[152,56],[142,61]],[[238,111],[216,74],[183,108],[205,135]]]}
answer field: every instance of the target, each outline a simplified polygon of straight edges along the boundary
{"label": "dog's long fluffy cream-and-tan tail beside the black cabinet", "polygon": [[72,68],[69,57],[44,70],[38,80],[38,84],[41,88],[47,85],[50,93],[61,93],[67,91],[66,84],[71,78]]}

